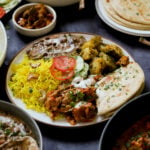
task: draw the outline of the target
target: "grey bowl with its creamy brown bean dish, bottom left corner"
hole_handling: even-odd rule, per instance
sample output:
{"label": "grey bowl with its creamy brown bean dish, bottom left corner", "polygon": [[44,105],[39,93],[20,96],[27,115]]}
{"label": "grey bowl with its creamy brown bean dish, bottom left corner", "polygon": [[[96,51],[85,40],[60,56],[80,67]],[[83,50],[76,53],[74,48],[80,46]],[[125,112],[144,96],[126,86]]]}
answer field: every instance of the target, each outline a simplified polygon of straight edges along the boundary
{"label": "grey bowl with its creamy brown bean dish, bottom left corner", "polygon": [[0,101],[0,149],[42,150],[36,123],[21,109]]}

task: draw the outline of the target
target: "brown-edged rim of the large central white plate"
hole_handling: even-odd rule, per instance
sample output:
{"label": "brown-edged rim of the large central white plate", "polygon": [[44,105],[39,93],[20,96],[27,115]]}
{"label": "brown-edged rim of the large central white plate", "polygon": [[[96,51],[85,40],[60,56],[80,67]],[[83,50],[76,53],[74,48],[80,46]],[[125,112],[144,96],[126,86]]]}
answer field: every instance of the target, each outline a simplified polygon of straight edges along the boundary
{"label": "brown-edged rim of the large central white plate", "polygon": [[[9,71],[10,71],[10,69],[11,69],[11,65],[13,64],[13,62],[15,62],[15,59],[17,59],[17,57],[19,57],[19,55],[21,55],[21,53],[24,53],[25,50],[26,50],[26,48],[27,48],[28,46],[32,45],[34,42],[40,41],[41,39],[46,38],[46,37],[51,37],[51,36],[54,36],[54,35],[63,35],[63,34],[79,34],[79,35],[82,34],[82,35],[85,35],[85,36],[86,36],[86,35],[87,35],[87,36],[99,35],[99,34],[87,33],[87,32],[61,32],[61,33],[54,33],[54,34],[50,34],[50,35],[46,35],[46,36],[40,37],[40,38],[38,38],[38,39],[36,39],[36,40],[34,40],[34,41],[28,43],[27,45],[25,45],[25,46],[24,46],[20,51],[18,51],[18,53],[12,58],[12,60],[11,60],[11,62],[10,62],[10,64],[9,64],[7,73],[6,73],[5,90],[6,90],[6,93],[7,93],[7,96],[8,96],[8,98],[9,98],[9,100],[10,100],[13,104],[15,104],[15,105],[18,106],[18,104],[15,103],[14,97],[11,97],[11,95],[10,95],[10,92],[11,92],[11,91],[9,91],[9,86],[8,86],[8,78],[9,78],[8,75],[9,75]],[[101,35],[100,35],[100,36],[101,36]],[[106,41],[109,41],[109,42],[112,42],[112,43],[118,45],[119,47],[121,47],[121,49],[123,50],[123,52],[126,53],[126,54],[130,57],[130,59],[131,59],[132,61],[135,61],[134,58],[131,56],[131,54],[130,54],[127,50],[125,50],[121,45],[117,44],[115,41],[113,41],[113,40],[111,40],[111,39],[105,38],[104,36],[101,36],[101,37],[102,37],[102,39],[104,39],[104,40],[106,40]],[[143,69],[142,69],[142,70],[143,70]],[[16,98],[15,98],[15,99],[16,99]],[[20,106],[19,106],[19,107],[20,107]],[[21,107],[21,109],[24,109],[24,108]],[[28,109],[24,109],[24,110],[25,110],[27,113],[29,113],[29,111],[30,111],[30,110],[28,111]],[[33,110],[33,111],[34,111],[34,110]],[[34,111],[34,112],[36,112],[36,111]],[[43,124],[50,125],[50,126],[55,126],[55,127],[63,127],[63,128],[83,128],[83,127],[93,126],[93,125],[96,125],[96,124],[99,124],[99,123],[103,123],[103,122],[107,121],[107,120],[110,118],[110,117],[104,118],[104,119],[101,120],[101,121],[90,122],[90,123],[88,123],[88,124],[70,125],[70,124],[68,123],[68,125],[61,125],[61,124],[58,125],[58,124],[55,124],[55,123],[47,123],[47,122],[44,122],[43,120],[40,120],[40,119],[36,118],[36,117],[33,116],[32,114],[29,114],[29,115],[30,115],[33,119],[35,119],[36,121],[41,122],[41,123],[43,123]]]}

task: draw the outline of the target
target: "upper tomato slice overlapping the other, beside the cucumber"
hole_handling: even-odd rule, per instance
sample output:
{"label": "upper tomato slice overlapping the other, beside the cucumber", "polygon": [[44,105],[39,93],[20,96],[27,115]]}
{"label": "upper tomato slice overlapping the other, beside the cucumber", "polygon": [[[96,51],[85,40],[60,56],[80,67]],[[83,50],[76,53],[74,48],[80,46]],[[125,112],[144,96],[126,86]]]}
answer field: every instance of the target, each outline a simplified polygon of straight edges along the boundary
{"label": "upper tomato slice overlapping the other, beside the cucumber", "polygon": [[75,68],[76,60],[73,57],[58,56],[53,58],[53,64],[57,70],[66,72]]}

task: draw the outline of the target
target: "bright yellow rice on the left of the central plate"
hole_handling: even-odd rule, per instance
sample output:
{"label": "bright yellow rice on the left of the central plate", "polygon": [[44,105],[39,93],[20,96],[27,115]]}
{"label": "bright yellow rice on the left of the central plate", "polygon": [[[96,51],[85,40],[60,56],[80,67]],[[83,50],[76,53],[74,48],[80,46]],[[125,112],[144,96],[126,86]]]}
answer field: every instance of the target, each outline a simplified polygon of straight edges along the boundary
{"label": "bright yellow rice on the left of the central plate", "polygon": [[[38,64],[37,68],[31,67],[30,64]],[[48,91],[55,90],[60,84],[60,81],[56,80],[50,74],[50,66],[52,59],[50,60],[30,60],[25,55],[24,59],[19,64],[12,65],[12,77],[9,81],[9,87],[13,92],[13,95],[21,99],[28,109],[33,109],[37,112],[46,111],[42,102],[39,101],[41,97],[40,90]],[[37,79],[27,80],[30,73],[38,74]]]}

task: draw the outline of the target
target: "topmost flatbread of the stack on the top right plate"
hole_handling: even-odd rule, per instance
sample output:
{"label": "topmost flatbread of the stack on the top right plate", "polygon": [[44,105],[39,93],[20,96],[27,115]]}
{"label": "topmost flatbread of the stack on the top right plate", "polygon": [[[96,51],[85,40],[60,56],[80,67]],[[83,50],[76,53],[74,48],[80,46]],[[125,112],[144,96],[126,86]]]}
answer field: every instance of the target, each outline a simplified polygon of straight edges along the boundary
{"label": "topmost flatbread of the stack on the top right plate", "polygon": [[110,0],[110,4],[120,17],[130,22],[150,25],[149,0]]}

